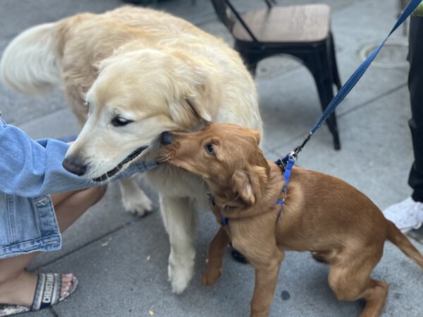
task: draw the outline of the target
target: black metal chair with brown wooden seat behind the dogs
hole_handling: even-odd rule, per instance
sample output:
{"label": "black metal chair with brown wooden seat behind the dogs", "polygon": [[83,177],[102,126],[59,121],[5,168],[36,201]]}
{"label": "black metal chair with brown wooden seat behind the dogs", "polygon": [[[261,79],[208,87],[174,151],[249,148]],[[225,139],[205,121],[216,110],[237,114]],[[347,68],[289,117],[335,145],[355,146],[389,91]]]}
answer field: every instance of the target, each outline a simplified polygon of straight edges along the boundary
{"label": "black metal chair with brown wooden seat behind the dogs", "polygon": [[[295,56],[312,73],[324,110],[333,98],[333,85],[341,88],[331,33],[331,11],[326,4],[274,6],[240,14],[229,0],[212,0],[219,20],[235,39],[234,48],[243,57],[253,75],[257,63],[276,54]],[[335,149],[341,149],[332,113],[326,123],[333,135]]]}

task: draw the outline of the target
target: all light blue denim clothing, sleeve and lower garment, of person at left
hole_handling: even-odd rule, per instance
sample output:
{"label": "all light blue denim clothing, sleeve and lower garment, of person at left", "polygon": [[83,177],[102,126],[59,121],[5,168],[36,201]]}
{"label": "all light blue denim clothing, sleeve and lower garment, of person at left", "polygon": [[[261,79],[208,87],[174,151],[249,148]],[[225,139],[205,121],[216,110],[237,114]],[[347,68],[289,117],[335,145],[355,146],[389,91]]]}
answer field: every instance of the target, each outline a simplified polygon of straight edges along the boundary
{"label": "all light blue denim clothing, sleeve and lower garment, of person at left", "polygon": [[[99,185],[62,167],[68,147],[55,139],[35,141],[7,125],[0,113],[0,259],[61,248],[49,193]],[[154,161],[134,163],[118,178],[156,166]]]}

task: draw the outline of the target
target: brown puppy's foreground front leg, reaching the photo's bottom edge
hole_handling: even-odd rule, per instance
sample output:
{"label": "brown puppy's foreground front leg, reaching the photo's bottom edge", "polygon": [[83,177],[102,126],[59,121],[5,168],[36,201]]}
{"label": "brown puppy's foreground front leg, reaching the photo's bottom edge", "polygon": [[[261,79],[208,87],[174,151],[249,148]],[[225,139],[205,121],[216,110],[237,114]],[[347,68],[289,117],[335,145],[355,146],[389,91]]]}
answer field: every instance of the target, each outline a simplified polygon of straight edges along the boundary
{"label": "brown puppy's foreground front leg, reaching the photo's bottom edge", "polygon": [[251,317],[269,316],[283,257],[283,251],[276,248],[274,256],[269,261],[263,261],[259,265],[252,263],[255,266],[255,287],[251,300]]}

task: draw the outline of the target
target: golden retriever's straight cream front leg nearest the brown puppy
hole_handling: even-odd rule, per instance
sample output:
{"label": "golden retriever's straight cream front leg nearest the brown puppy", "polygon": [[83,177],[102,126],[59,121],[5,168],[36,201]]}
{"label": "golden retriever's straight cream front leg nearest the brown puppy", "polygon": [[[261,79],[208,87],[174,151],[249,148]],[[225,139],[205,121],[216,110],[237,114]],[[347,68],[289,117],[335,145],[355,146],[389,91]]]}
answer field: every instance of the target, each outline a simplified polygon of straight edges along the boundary
{"label": "golden retriever's straight cream front leg nearest the brown puppy", "polygon": [[168,275],[174,293],[188,286],[194,271],[197,211],[189,198],[160,194],[160,207],[171,242]]}

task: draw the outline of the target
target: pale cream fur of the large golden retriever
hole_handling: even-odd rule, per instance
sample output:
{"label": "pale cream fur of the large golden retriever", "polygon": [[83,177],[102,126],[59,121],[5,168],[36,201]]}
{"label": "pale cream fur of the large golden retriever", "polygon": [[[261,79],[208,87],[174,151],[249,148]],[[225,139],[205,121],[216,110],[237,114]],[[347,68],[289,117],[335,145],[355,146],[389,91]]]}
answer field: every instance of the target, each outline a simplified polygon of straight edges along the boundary
{"label": "pale cream fur of the large golden retriever", "polygon": [[[64,89],[75,115],[86,120],[67,157],[87,163],[89,178],[139,147],[147,147],[141,159],[153,159],[161,132],[192,128],[200,118],[262,131],[254,82],[238,54],[185,20],[146,8],[84,13],[32,27],[4,51],[0,77],[29,94],[51,85]],[[116,116],[133,122],[115,127]],[[182,292],[192,277],[196,210],[204,206],[207,188],[166,165],[146,177],[159,191],[171,240],[173,292]],[[123,189],[127,209],[151,209],[133,180],[125,180]]]}

